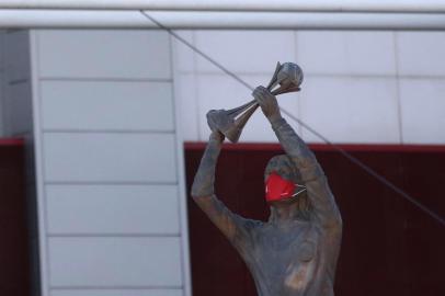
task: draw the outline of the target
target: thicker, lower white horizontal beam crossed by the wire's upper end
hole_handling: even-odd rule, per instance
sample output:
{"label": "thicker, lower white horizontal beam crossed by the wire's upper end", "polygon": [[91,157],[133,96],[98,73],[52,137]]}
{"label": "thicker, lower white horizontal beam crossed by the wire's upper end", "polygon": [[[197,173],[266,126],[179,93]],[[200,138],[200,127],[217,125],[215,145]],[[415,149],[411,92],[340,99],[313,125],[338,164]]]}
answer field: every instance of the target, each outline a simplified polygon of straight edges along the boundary
{"label": "thicker, lower white horizontal beam crossed by the wire's upper end", "polygon": [[[148,11],[170,29],[445,30],[445,14]],[[157,29],[138,11],[0,10],[0,27]]]}

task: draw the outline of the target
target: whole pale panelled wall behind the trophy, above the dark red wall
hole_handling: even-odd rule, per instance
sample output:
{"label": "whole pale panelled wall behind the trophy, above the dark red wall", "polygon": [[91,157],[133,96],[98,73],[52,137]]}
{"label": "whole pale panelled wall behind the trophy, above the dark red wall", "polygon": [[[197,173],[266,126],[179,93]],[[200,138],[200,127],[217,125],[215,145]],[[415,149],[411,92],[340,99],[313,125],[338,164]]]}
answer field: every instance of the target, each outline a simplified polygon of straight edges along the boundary
{"label": "whole pale panelled wall behind the trophy, above the dark red wall", "polygon": [[[445,144],[445,33],[367,31],[181,31],[253,87],[276,61],[305,71],[283,107],[334,143]],[[250,91],[175,42],[176,94],[186,140],[206,140],[205,114],[247,102]],[[303,137],[321,141],[297,124]],[[241,140],[275,141],[261,112]]]}

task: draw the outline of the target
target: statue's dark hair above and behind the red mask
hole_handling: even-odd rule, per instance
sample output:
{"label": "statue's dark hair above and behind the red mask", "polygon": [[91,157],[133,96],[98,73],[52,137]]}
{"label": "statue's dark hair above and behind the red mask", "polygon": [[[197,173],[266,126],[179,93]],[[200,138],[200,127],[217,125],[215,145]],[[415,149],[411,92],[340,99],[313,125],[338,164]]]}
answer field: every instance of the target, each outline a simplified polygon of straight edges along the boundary
{"label": "statue's dark hair above and behind the red mask", "polygon": [[[267,166],[264,170],[264,180],[266,180],[273,171],[275,171],[277,174],[286,180],[289,180],[299,185],[305,185],[301,179],[301,174],[297,166],[295,164],[295,161],[287,155],[274,156],[269,160]],[[309,219],[311,205],[307,196],[307,192],[304,192],[292,198],[298,201],[298,216],[300,216],[301,219]],[[273,215],[273,209],[271,214]]]}

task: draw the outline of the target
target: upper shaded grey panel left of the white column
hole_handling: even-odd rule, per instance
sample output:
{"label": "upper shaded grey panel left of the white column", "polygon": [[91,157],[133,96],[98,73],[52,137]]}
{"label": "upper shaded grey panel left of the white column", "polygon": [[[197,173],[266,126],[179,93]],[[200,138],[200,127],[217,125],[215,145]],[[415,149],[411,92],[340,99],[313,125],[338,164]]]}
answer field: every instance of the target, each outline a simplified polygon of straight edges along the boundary
{"label": "upper shaded grey panel left of the white column", "polygon": [[5,70],[8,81],[28,79],[31,76],[30,34],[26,30],[5,34]]}

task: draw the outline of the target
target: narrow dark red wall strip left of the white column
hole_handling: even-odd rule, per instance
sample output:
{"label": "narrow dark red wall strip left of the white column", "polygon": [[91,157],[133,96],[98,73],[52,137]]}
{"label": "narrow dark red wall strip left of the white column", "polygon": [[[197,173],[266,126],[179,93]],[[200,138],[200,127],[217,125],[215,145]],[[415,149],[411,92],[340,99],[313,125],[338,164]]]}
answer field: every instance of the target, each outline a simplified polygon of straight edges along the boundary
{"label": "narrow dark red wall strip left of the white column", "polygon": [[30,295],[24,148],[0,139],[0,295]]}

